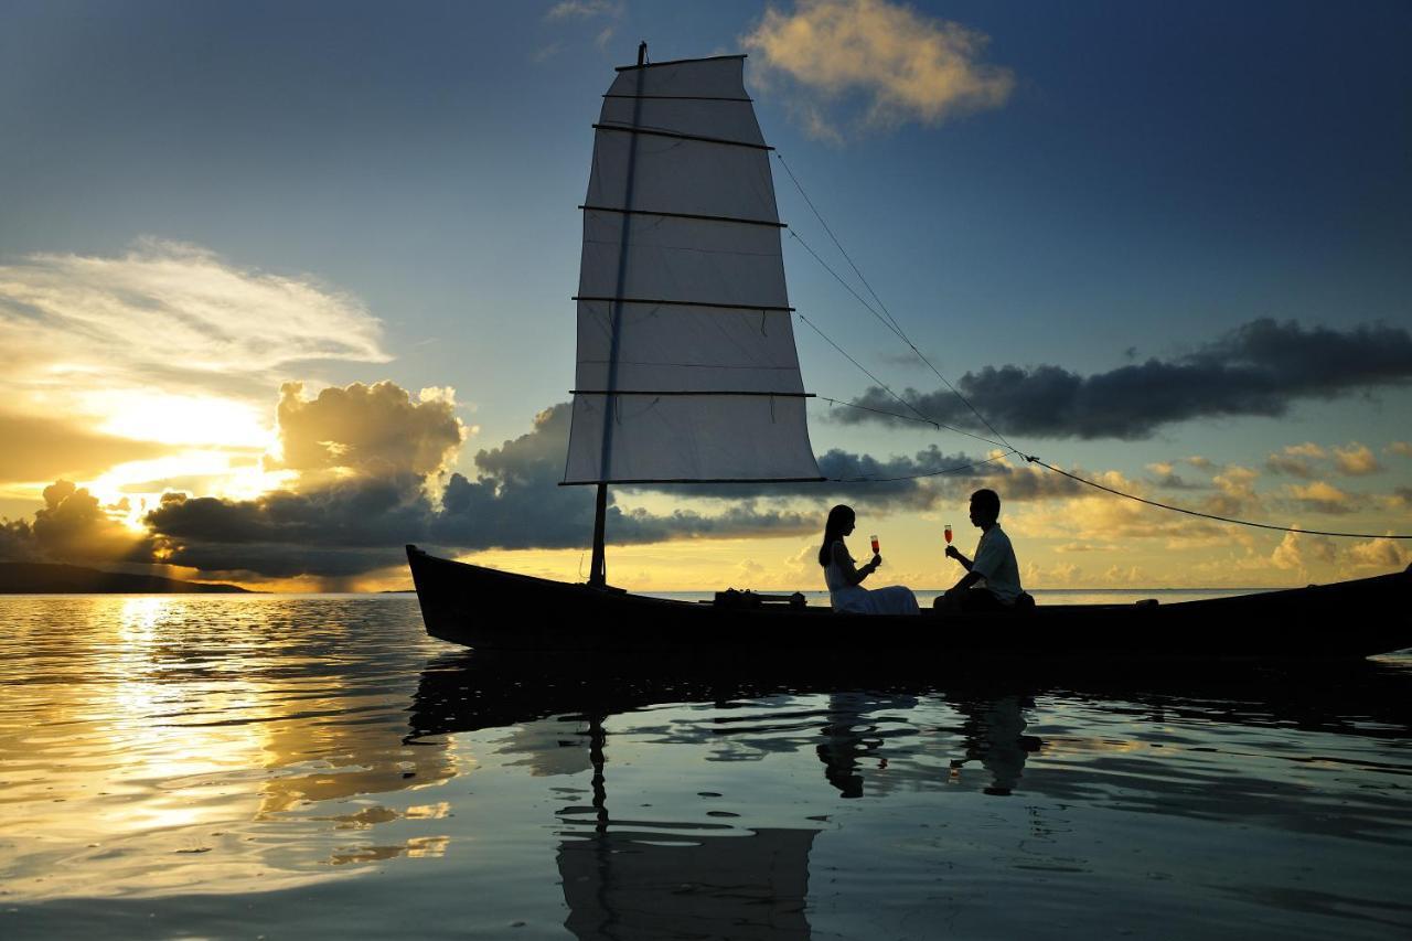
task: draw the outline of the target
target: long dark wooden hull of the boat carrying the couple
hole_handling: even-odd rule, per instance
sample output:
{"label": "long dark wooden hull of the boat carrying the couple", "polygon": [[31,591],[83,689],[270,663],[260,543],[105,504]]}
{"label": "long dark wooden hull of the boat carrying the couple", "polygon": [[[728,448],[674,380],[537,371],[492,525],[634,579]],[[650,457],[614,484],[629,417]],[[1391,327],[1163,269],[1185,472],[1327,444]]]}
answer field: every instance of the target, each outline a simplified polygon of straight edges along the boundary
{"label": "long dark wooden hull of the boat carrying the couple", "polygon": [[722,609],[455,562],[407,547],[426,633],[477,650],[840,657],[1367,657],[1412,646],[1412,567],[1333,585],[1158,605],[921,617]]}

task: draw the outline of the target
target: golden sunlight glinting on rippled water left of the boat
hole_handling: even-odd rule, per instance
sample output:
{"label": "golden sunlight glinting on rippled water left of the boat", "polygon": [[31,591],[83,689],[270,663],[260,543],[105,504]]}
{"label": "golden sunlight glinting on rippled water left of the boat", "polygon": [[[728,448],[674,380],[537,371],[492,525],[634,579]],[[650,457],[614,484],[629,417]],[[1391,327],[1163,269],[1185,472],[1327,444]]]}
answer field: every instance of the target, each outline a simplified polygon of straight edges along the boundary
{"label": "golden sunlight glinting on rippled water left of the boat", "polygon": [[474,766],[453,743],[404,747],[405,716],[376,684],[360,691],[356,674],[298,668],[308,632],[337,637],[346,625],[301,620],[298,600],[275,598],[215,602],[219,623],[212,600],[189,596],[54,603],[82,627],[24,639],[52,651],[42,654],[52,665],[10,697],[32,714],[24,729],[0,723],[0,808],[24,808],[0,814],[0,869],[28,860],[6,879],[10,899],[79,897],[95,884],[127,896],[270,892],[374,858],[445,853],[449,838],[435,831],[377,845],[345,832],[435,827],[445,801],[398,810],[387,795]]}

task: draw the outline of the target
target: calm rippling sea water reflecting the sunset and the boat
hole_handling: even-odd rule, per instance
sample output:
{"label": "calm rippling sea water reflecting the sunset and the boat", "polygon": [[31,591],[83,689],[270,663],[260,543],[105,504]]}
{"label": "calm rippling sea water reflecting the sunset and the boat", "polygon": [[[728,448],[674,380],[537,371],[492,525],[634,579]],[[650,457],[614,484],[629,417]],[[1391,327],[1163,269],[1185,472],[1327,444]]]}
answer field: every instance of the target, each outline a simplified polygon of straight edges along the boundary
{"label": "calm rippling sea water reflecting the sunset and the boat", "polygon": [[661,675],[404,595],[0,626],[6,940],[1412,935],[1408,654]]}

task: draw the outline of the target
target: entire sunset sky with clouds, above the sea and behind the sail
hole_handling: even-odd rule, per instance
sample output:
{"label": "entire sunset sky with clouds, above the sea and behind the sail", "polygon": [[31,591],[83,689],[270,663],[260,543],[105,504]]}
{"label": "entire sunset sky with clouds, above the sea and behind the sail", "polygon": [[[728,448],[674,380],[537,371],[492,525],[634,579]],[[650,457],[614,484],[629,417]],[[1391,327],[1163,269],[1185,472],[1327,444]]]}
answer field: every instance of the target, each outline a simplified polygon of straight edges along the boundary
{"label": "entire sunset sky with clouds, above the sea and behind the sail", "polygon": [[[1372,0],[8,0],[0,558],[378,591],[417,543],[583,578],[578,206],[638,41],[747,54],[791,304],[911,406],[993,437],[854,292],[1019,452],[1305,533],[1011,454],[614,487],[610,582],[820,588],[846,502],[877,584],[945,588],[980,486],[1031,588],[1412,562],[1378,538],[1412,533],[1412,7]],[[826,476],[995,456],[825,401],[899,408],[795,332]]]}

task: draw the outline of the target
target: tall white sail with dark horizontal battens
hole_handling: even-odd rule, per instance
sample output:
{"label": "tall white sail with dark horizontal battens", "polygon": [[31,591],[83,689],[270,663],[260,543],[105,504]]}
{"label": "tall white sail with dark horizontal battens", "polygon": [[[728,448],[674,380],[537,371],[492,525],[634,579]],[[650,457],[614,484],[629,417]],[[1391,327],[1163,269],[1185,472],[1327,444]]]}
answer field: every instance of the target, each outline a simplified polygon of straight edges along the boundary
{"label": "tall white sail with dark horizontal battens", "polygon": [[618,69],[603,99],[565,483],[820,479],[743,61]]}

